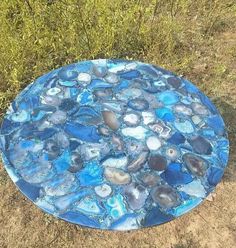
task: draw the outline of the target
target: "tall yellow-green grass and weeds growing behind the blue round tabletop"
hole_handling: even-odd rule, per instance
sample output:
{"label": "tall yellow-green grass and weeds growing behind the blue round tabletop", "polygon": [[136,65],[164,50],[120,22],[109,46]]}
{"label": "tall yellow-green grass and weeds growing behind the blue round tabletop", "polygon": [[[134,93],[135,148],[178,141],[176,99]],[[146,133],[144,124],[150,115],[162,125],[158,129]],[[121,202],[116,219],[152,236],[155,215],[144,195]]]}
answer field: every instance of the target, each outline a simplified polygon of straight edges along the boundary
{"label": "tall yellow-green grass and weeds growing behind the blue round tabletop", "polygon": [[[0,114],[32,80],[78,60],[137,59],[189,74],[235,13],[233,0],[2,0]],[[228,73],[225,64],[209,70]]]}

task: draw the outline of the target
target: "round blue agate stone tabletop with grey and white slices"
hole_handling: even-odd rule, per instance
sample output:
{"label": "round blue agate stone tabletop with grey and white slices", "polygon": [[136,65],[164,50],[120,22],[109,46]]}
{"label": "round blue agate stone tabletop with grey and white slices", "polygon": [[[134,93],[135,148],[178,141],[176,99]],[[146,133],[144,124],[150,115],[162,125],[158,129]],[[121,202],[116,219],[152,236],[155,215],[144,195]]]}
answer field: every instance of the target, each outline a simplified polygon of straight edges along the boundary
{"label": "round blue agate stone tabletop with grey and white slices", "polygon": [[5,168],[37,206],[69,222],[130,230],[190,211],[220,181],[224,122],[186,79],[93,60],[38,78],[1,127]]}

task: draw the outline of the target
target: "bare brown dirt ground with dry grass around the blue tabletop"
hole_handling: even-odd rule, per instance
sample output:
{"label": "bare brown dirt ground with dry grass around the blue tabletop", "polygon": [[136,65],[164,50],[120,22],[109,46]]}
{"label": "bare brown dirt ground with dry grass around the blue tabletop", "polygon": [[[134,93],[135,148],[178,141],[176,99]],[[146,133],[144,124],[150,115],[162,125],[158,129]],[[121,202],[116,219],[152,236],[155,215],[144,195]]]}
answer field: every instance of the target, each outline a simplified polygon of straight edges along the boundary
{"label": "bare brown dirt ground with dry grass around the blue tabletop", "polygon": [[[236,247],[236,32],[220,34],[203,53],[186,76],[198,82],[219,108],[231,145],[223,180],[208,200],[190,213],[153,228],[129,232],[81,228],[34,206],[0,165],[0,248]],[[212,61],[219,68],[213,70]]]}

